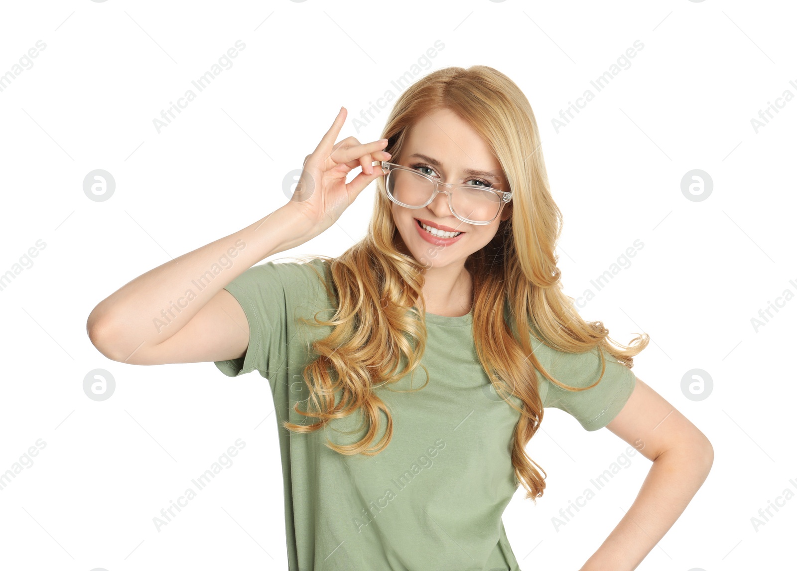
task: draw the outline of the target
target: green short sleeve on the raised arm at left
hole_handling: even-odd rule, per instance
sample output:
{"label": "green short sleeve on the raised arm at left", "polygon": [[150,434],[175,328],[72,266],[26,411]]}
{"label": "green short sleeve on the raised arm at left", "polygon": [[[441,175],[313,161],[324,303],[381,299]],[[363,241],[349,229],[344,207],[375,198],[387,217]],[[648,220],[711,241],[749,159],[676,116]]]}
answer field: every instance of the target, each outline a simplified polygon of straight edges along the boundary
{"label": "green short sleeve on the raised arm at left", "polygon": [[238,359],[214,361],[226,376],[257,370],[269,378],[285,359],[286,295],[282,276],[291,264],[265,262],[252,266],[227,284],[249,321],[249,347]]}

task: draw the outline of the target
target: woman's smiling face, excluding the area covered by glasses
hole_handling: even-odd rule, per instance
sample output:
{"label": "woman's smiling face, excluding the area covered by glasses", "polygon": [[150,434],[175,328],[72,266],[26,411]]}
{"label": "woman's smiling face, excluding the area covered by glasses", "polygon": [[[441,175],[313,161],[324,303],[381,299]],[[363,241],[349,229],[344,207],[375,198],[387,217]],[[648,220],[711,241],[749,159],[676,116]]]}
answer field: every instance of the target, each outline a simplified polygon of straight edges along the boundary
{"label": "woman's smiling face, excluding the area covered by glasses", "polygon": [[[486,186],[469,182],[481,179],[489,183],[501,182],[502,190],[508,189],[501,164],[485,140],[450,109],[426,114],[418,120],[410,129],[401,156],[393,162],[414,168],[442,183]],[[465,169],[487,174],[466,174]],[[430,268],[464,265],[470,254],[481,250],[493,239],[501,221],[512,215],[512,203],[502,206],[496,219],[484,225],[457,219],[450,210],[448,196],[442,192],[422,208],[406,208],[391,201],[391,212],[406,249],[423,266]],[[453,228],[461,234],[449,244],[434,243],[436,239],[419,225],[419,220],[433,226]]]}

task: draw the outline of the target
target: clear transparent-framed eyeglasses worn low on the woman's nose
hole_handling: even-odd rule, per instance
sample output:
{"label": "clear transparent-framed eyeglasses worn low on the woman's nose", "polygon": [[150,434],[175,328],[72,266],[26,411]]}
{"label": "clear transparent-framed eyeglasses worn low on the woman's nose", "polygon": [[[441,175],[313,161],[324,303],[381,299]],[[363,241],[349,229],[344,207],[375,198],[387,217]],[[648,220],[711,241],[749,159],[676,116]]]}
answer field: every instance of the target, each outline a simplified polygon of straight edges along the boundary
{"label": "clear transparent-framed eyeglasses worn low on the woman's nose", "polygon": [[[501,206],[512,200],[512,192],[502,191],[500,183],[489,183],[489,187],[468,184],[446,184],[424,175],[414,168],[381,161],[385,177],[387,198],[406,208],[422,208],[429,205],[438,192],[448,195],[451,214],[468,224],[489,224],[496,219]],[[446,187],[447,191],[440,187]]]}

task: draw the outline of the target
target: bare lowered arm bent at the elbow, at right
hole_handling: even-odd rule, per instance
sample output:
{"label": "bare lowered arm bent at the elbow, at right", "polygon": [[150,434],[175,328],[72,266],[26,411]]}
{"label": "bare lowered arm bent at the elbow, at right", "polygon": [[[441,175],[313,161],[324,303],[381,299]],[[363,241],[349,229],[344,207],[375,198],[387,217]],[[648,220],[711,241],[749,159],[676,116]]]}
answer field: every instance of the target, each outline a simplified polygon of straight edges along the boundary
{"label": "bare lowered arm bent at the elbow, at right", "polygon": [[714,461],[709,439],[639,378],[607,428],[653,466],[630,509],[581,571],[636,569],[686,509]]}

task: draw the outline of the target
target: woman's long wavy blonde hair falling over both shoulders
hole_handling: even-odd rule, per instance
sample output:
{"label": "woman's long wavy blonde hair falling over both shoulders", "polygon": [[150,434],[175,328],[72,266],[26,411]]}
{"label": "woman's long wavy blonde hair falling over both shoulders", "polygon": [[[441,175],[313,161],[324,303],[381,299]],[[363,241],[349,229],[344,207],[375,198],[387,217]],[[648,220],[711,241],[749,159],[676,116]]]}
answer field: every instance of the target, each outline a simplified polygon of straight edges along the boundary
{"label": "woman's long wavy blonde hair falling over both shoulders", "polygon": [[[535,370],[561,388],[583,391],[603,379],[606,360],[601,352],[603,368],[595,384],[568,387],[544,370],[532,350],[532,337],[563,352],[586,352],[600,346],[629,368],[650,339],[642,334],[632,345],[615,348],[603,323],[584,321],[574,308],[573,297],[563,293],[554,251],[562,215],[549,191],[534,113],[517,85],[485,65],[429,73],[396,100],[383,130],[383,138],[389,141],[385,150],[398,159],[412,126],[438,109],[456,112],[489,144],[512,191],[511,217],[500,223],[489,244],[469,256],[465,268],[473,277],[477,354],[497,394],[520,412],[512,465],[516,483],[522,482],[526,498],[536,503],[545,489],[544,476],[525,452],[544,414]],[[384,179],[376,183],[366,237],[337,258],[309,257],[325,261],[334,287],[328,286],[324,276],[320,278],[337,303],[336,313],[328,321],[317,314],[312,321],[302,320],[308,325],[333,327],[328,337],[313,342],[318,356],[304,368],[308,410],[300,411],[298,403],[293,408],[316,422],[283,422],[290,431],[307,433],[362,408],[368,421],[363,439],[347,446],[327,443],[344,455],[375,455],[390,443],[391,413],[374,388],[400,380],[418,366],[426,371],[420,363],[426,348],[425,267],[405,253],[391,202],[384,194]],[[398,370],[402,361],[404,367]],[[339,391],[342,395],[336,404]],[[522,407],[517,408],[509,395],[520,399]],[[387,415],[387,429],[371,446],[379,434],[379,411]]]}

